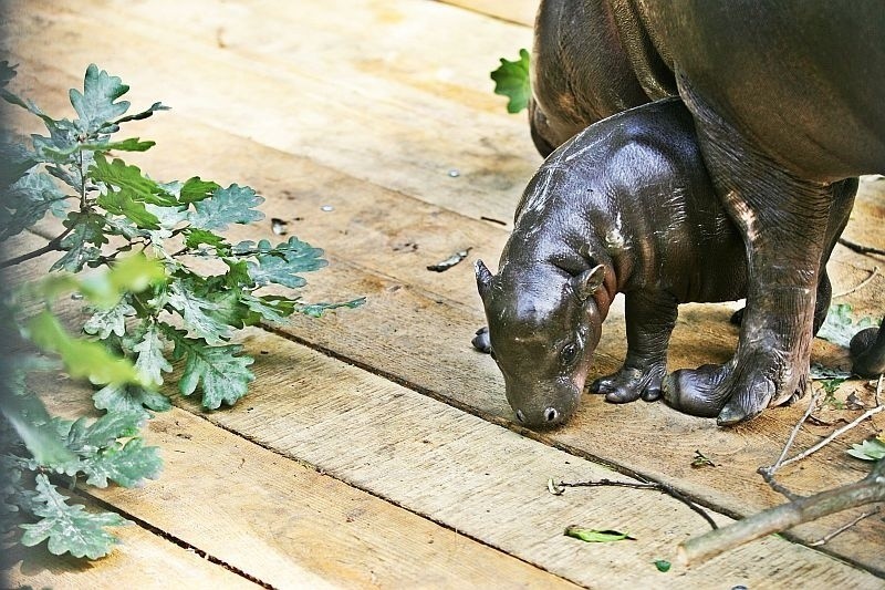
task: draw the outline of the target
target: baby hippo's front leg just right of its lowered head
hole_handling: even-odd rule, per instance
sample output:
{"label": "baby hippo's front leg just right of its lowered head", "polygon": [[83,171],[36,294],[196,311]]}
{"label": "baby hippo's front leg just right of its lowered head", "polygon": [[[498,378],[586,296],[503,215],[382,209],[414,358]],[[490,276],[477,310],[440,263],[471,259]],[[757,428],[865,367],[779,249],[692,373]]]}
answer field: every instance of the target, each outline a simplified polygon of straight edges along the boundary
{"label": "baby hippo's front leg just right of its lowered head", "polygon": [[627,358],[617,372],[594,381],[590,391],[604,394],[607,402],[616,404],[660,397],[677,309],[676,299],[665,292],[626,293]]}

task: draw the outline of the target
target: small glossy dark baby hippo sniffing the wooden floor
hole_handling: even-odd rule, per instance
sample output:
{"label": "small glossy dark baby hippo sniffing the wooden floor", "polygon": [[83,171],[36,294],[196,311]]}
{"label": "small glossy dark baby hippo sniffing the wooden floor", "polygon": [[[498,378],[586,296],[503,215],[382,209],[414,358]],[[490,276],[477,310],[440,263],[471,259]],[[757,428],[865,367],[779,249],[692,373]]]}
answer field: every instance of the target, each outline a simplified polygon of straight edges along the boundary
{"label": "small glossy dark baby hippo sniffing the wooden floor", "polygon": [[[830,248],[856,189],[846,185],[839,185]],[[478,261],[477,286],[520,422],[552,426],[574,412],[618,292],[626,360],[590,389],[615,403],[659,397],[677,306],[736,300],[747,290],[743,242],[714,192],[683,102],[610,117],[548,157],[517,209],[499,273]],[[822,272],[816,327],[830,294]]]}

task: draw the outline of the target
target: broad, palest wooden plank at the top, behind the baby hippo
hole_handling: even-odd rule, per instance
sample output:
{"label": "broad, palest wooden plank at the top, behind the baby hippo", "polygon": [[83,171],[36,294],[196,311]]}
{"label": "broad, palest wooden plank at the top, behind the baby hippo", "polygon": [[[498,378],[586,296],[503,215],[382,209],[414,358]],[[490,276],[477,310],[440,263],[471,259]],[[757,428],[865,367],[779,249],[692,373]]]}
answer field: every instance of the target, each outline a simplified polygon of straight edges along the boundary
{"label": "broad, palest wooden plank at the top, behind the baby hippo", "polygon": [[[475,218],[512,215],[541,159],[525,125],[517,124],[524,118],[508,115],[506,101],[492,94],[489,72],[500,55],[525,46],[529,30],[436,2],[385,3],[398,18],[373,2],[337,2],[322,10],[273,3],[273,12],[212,2],[205,9],[190,2],[13,3],[17,35],[7,43],[14,42],[22,63],[42,60],[69,75],[81,76],[85,64],[97,62],[133,87],[136,103],[150,104],[162,93],[208,125],[299,151],[356,178]],[[244,40],[219,46],[212,21],[195,32],[187,17],[217,13],[227,15],[226,31],[244,32]],[[325,24],[313,25],[320,17]],[[125,32],[117,34],[121,22]],[[105,34],[90,34],[94,28]],[[372,40],[342,42],[343,33],[327,32],[344,28],[371,31]],[[468,30],[451,42],[451,31]],[[64,39],[63,48],[53,39]],[[270,40],[292,42],[260,53]],[[154,63],[176,69],[134,66],[145,51]]]}

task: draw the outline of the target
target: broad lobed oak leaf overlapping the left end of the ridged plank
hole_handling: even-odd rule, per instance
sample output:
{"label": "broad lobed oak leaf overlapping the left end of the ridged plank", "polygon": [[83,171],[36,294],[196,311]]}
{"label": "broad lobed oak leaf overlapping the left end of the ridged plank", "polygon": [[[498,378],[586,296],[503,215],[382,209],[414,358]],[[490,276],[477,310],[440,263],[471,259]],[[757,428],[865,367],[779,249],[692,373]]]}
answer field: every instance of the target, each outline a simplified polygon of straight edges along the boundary
{"label": "broad lobed oak leaf overlapping the left end of the ridged plank", "polygon": [[186,360],[178,383],[183,395],[192,394],[199,385],[202,390],[202,405],[209,410],[217,410],[222,403],[232,405],[246,395],[249,383],[254,380],[247,368],[254,359],[240,355],[242,346],[209,346],[177,331],[170,332],[175,340],[175,359]]}

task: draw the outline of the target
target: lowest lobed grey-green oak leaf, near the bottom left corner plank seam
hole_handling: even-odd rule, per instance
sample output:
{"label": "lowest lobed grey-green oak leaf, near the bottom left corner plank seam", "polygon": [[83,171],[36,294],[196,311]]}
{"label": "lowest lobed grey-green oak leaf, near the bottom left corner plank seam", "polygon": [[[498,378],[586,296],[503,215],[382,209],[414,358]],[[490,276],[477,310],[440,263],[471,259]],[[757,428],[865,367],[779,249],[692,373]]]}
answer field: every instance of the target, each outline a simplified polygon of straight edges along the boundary
{"label": "lowest lobed grey-green oak leaf, near the bottom left corner plank seam", "polygon": [[82,504],[67,505],[67,498],[59,494],[43,474],[38,474],[34,516],[35,524],[20,525],[24,529],[21,544],[33,547],[49,540],[52,555],[71,553],[74,557],[98,559],[111,552],[117,539],[104,527],[119,527],[128,520],[114,513],[87,513]]}

